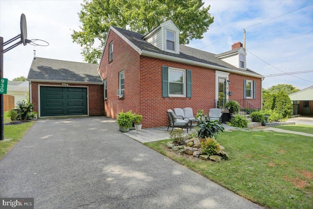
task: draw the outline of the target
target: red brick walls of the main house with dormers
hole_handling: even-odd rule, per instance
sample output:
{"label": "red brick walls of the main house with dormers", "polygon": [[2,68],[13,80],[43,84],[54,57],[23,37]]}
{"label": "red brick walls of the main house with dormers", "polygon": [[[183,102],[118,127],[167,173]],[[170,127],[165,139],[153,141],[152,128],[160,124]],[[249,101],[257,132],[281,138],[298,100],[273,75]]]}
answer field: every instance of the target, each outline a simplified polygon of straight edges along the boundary
{"label": "red brick walls of the main house with dormers", "polygon": [[[108,82],[108,98],[105,115],[116,118],[124,110],[143,115],[143,128],[167,126],[167,109],[191,107],[196,115],[199,109],[208,114],[215,107],[215,70],[205,69],[178,62],[139,56],[131,46],[112,30],[107,46],[113,41],[113,61],[109,63],[109,47],[105,47],[99,73]],[[162,66],[192,70],[192,98],[162,97]],[[125,98],[119,99],[118,73],[125,71]],[[231,99],[243,99],[243,79],[257,81],[257,99],[251,103],[261,107],[261,79],[237,74],[229,74]],[[236,79],[236,80],[235,80]]]}

